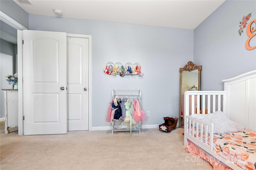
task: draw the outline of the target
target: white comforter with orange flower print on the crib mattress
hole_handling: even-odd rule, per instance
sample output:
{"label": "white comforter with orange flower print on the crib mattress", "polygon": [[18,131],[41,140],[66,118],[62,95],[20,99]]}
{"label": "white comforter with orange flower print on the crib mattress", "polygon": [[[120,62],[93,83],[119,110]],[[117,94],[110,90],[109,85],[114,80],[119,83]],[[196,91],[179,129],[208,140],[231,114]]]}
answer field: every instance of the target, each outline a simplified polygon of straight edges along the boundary
{"label": "white comforter with orange flower print on the crib mattress", "polygon": [[244,170],[256,170],[256,132],[214,134],[214,151]]}

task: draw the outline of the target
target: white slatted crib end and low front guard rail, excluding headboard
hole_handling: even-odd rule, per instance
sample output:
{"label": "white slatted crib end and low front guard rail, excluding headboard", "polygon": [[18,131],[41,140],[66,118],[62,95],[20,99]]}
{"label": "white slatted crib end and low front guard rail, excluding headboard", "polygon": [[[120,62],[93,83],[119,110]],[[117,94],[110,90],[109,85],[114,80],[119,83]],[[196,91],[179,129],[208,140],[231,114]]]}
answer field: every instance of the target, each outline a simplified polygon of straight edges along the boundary
{"label": "white slatted crib end and low front guard rail, excluding headboard", "polygon": [[[189,109],[191,107],[192,109]],[[190,116],[195,113],[199,114],[200,110],[202,114],[206,114],[206,109],[208,113],[214,111],[226,113],[226,91],[186,91],[184,93],[184,147],[186,148],[187,140],[190,140],[218,162],[232,169],[241,169],[213,151],[214,124]]]}

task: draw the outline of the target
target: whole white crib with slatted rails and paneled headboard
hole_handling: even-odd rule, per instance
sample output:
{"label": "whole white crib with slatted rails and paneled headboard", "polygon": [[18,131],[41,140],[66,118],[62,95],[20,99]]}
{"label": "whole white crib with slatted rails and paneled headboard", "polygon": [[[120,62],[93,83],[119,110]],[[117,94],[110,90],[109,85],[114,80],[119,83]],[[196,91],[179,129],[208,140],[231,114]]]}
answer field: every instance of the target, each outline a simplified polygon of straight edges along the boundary
{"label": "whole white crib with slatted rails and paneled headboard", "polygon": [[[237,170],[241,168],[213,151],[214,124],[191,116],[200,112],[205,114],[222,111],[228,114],[230,120],[246,129],[256,131],[256,70],[223,82],[225,91],[184,92],[184,147],[189,140],[211,157]],[[195,128],[208,132],[209,139],[203,139]]]}

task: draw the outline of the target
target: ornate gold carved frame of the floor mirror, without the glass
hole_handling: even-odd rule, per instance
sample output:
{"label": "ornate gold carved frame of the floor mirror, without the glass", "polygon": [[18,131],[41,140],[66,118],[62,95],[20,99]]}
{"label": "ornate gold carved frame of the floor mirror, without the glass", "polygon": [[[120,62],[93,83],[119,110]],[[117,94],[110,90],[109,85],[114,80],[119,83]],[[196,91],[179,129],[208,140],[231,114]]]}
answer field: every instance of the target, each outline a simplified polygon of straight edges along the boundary
{"label": "ornate gold carved frame of the floor mirror, without the glass", "polygon": [[[180,98],[179,98],[179,127],[181,127],[181,122],[182,122],[182,117],[181,117],[181,86],[182,86],[182,72],[183,71],[193,71],[193,70],[198,70],[198,90],[200,90],[201,87],[201,70],[202,70],[202,66],[197,66],[196,64],[194,64],[192,61],[189,61],[188,64],[186,64],[183,68],[180,68]],[[184,119],[185,117],[183,117]]]}

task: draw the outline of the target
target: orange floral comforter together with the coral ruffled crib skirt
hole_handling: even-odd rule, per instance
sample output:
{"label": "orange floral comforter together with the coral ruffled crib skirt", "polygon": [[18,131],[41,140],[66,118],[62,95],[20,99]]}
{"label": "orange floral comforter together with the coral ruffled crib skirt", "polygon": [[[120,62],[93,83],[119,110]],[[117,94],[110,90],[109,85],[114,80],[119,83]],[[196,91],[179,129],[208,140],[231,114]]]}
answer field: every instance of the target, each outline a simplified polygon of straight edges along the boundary
{"label": "orange floral comforter together with the coral ruffled crib skirt", "polygon": [[[196,129],[195,129],[196,131]],[[198,135],[200,132],[198,133]],[[196,135],[196,134],[195,134]],[[205,134],[203,133],[203,140]],[[209,135],[208,135],[209,137]],[[208,143],[209,145],[209,143]],[[228,167],[215,161],[207,154],[188,141],[186,143],[186,150],[192,154],[196,154],[201,158],[207,160],[214,169],[229,169]],[[227,133],[227,134],[214,134],[213,151],[230,160],[236,166],[244,170],[256,170],[256,132],[248,129],[243,131]]]}

